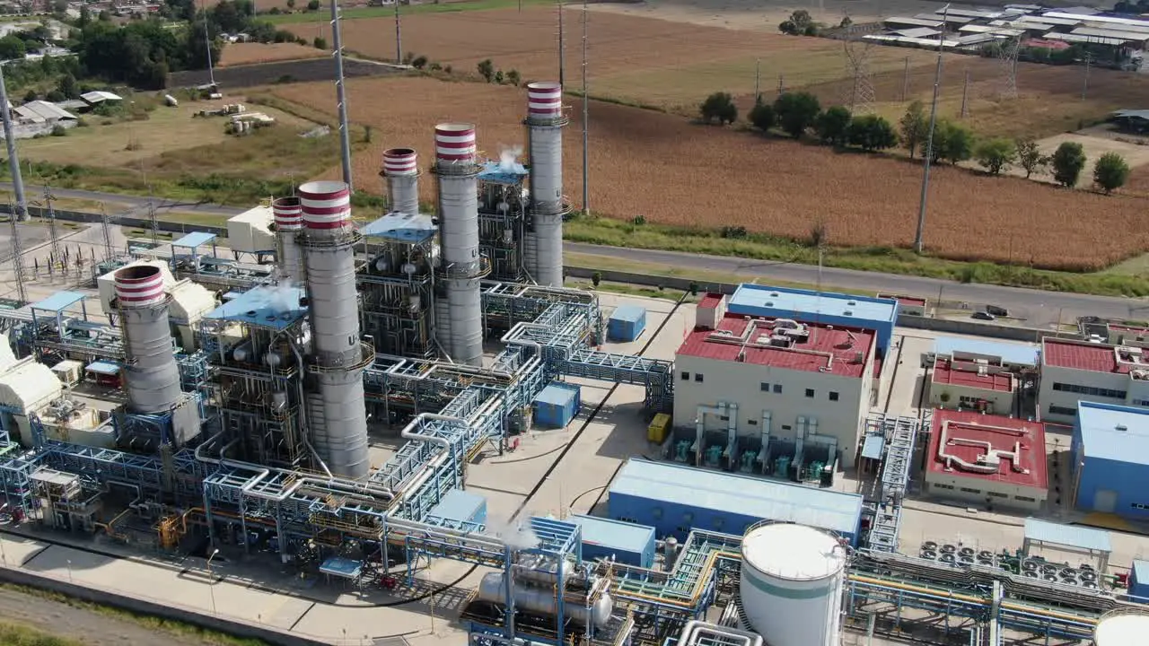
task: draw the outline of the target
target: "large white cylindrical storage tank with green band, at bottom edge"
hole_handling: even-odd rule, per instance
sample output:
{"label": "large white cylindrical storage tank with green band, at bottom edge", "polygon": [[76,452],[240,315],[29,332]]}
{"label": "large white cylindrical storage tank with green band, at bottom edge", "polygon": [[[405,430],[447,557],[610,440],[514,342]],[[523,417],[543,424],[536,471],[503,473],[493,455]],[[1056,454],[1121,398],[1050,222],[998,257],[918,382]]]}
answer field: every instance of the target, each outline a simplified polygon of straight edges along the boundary
{"label": "large white cylindrical storage tank with green band, at bottom edge", "polygon": [[742,608],[770,646],[838,646],[846,548],[822,530],[773,523],[742,538]]}

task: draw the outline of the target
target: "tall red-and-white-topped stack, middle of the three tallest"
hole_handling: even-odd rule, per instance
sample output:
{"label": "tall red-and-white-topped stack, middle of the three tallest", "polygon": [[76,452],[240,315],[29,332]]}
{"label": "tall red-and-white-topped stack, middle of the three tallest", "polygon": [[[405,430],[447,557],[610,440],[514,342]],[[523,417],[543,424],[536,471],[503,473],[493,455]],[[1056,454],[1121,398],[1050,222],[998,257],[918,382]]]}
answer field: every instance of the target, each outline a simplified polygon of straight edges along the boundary
{"label": "tall red-and-white-topped stack, middle of the three tallest", "polygon": [[489,264],[479,255],[479,199],[475,124],[434,128],[439,178],[440,271],[447,290],[446,317],[437,317],[439,344],[457,363],[483,364],[479,282]]}

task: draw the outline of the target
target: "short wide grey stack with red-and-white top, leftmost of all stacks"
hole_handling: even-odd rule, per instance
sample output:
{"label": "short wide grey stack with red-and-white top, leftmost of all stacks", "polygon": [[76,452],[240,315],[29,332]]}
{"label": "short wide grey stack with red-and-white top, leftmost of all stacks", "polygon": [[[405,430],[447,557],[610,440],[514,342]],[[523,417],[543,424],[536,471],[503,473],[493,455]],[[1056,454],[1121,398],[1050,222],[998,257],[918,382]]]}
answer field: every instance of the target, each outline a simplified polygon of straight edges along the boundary
{"label": "short wide grey stack with red-and-white top, leftmost of all stacks", "polygon": [[179,369],[168,323],[163,274],[151,264],[115,274],[128,361],[124,380],[133,413],[168,413],[180,401]]}

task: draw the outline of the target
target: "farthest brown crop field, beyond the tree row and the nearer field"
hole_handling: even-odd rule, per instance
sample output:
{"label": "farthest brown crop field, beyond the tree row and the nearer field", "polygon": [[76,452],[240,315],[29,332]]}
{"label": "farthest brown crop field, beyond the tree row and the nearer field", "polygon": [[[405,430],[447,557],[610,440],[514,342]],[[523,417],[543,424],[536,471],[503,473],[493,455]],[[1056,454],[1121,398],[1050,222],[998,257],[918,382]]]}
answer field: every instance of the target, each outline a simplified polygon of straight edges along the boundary
{"label": "farthest brown crop field, beyond the tree row and the nearer field", "polygon": [[[581,83],[581,11],[565,17],[568,85]],[[787,84],[809,85],[840,79],[846,59],[839,41],[778,33],[735,31],[718,26],[591,11],[588,14],[588,83],[591,93],[672,110],[693,110],[708,94],[754,92],[755,61],[762,59],[763,86],[779,75]],[[326,24],[293,24],[307,39],[330,31]],[[475,72],[491,59],[495,67],[518,70],[524,78],[553,79],[558,74],[557,13],[526,8],[414,14],[402,18],[403,49],[423,54],[455,71]],[[344,46],[365,56],[393,60],[395,29],[391,17],[344,23]],[[927,52],[877,48],[876,71],[928,64]]]}

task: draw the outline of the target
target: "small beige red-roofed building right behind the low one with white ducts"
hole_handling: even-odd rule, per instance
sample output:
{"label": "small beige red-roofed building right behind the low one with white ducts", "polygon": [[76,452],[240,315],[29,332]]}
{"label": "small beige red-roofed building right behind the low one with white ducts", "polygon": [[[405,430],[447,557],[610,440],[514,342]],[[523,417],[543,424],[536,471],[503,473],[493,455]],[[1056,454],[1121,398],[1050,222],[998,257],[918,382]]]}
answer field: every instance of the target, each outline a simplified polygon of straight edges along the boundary
{"label": "small beige red-roofed building right behind the low one with white ducts", "polygon": [[934,359],[930,405],[934,408],[1009,415],[1015,401],[1013,375],[988,359]]}

